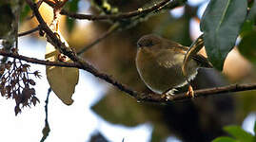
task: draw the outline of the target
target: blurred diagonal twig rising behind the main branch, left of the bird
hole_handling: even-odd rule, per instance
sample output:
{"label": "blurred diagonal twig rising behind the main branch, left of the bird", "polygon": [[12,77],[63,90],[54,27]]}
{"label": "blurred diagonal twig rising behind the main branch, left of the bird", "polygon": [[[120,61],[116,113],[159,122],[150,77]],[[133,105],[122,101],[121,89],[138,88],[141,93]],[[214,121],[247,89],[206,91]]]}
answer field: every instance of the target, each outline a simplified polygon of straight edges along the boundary
{"label": "blurred diagonal twig rising behind the main branch, left of the bird", "polygon": [[79,52],[77,52],[77,55],[83,54],[84,52],[89,50],[93,45],[100,43],[102,40],[106,39],[110,34],[115,32],[119,27],[120,27],[119,24],[115,24],[115,25],[109,27],[108,31],[103,33],[98,39],[96,39],[95,41],[93,41],[92,43],[88,44],[83,49],[81,49]]}

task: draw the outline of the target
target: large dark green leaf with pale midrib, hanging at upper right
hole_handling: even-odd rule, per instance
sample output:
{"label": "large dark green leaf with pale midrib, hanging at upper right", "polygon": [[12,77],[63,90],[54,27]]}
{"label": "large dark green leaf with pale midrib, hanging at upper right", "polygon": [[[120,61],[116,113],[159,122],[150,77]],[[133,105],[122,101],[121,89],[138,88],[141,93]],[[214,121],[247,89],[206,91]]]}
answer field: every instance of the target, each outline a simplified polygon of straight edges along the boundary
{"label": "large dark green leaf with pale midrib, hanging at upper right", "polygon": [[246,0],[211,0],[200,24],[209,61],[222,70],[246,19]]}

